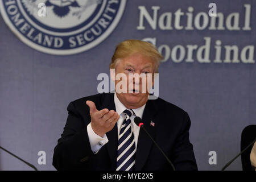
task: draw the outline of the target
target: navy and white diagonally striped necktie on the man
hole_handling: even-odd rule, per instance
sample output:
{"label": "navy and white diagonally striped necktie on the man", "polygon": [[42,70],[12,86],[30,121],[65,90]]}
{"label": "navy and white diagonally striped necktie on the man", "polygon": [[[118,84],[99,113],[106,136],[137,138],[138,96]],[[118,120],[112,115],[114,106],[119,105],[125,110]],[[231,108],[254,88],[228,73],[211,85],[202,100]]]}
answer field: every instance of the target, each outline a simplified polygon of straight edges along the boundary
{"label": "navy and white diagonally striped necktie on the man", "polygon": [[135,164],[135,139],[130,117],[134,112],[126,109],[123,113],[126,118],[123,120],[118,137],[117,171],[132,171]]}

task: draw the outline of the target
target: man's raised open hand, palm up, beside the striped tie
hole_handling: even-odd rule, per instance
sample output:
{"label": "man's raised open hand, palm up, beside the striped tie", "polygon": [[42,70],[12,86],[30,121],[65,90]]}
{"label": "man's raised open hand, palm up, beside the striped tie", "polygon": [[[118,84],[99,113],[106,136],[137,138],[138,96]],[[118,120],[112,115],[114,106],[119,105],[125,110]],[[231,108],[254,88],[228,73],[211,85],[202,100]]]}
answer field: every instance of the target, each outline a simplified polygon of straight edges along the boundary
{"label": "man's raised open hand, palm up, beside the striped tie", "polygon": [[102,109],[99,111],[92,101],[86,101],[86,105],[90,107],[90,125],[94,133],[104,137],[105,133],[113,129],[120,115],[114,110]]}

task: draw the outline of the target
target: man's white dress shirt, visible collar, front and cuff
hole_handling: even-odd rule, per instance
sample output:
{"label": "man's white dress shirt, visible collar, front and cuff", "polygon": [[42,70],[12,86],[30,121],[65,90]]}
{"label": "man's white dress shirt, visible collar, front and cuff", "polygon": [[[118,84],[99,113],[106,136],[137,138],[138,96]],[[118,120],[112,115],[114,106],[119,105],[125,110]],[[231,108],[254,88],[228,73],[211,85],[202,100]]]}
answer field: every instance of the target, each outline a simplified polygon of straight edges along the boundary
{"label": "man's white dress shirt, visible collar, front and cuff", "polygon": [[[114,93],[114,103],[115,103],[115,110],[120,115],[120,118],[117,121],[117,131],[118,131],[117,137],[119,138],[119,133],[120,133],[120,129],[122,126],[122,122],[125,119],[125,114],[123,113],[123,111],[126,110],[127,108],[122,104],[121,101],[119,101],[119,99],[117,98],[117,95],[115,93]],[[136,148],[137,148],[140,128],[139,128],[139,126],[137,126],[135,124],[133,119],[137,116],[142,118],[142,114],[143,114],[145,106],[146,106],[146,104],[144,104],[141,107],[138,107],[137,109],[133,109],[135,115],[132,115],[130,118],[131,119],[131,129],[133,130]],[[87,126],[87,133],[88,133],[88,137],[89,137],[90,148],[92,149],[94,154],[97,154],[97,152],[101,149],[101,147],[104,146],[104,144],[108,143],[108,141],[109,141],[108,137],[106,137],[106,134],[104,135],[104,137],[100,137],[99,135],[94,133],[90,123]]]}

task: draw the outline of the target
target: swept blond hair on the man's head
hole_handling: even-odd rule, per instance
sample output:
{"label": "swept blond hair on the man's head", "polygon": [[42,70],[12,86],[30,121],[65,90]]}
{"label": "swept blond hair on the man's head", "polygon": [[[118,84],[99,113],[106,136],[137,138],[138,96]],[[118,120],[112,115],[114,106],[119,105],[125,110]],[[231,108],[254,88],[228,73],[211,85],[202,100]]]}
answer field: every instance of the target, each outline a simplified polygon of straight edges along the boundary
{"label": "swept blond hair on the man's head", "polygon": [[115,48],[115,52],[112,56],[112,61],[109,67],[115,68],[118,60],[134,55],[135,53],[140,53],[144,56],[151,57],[151,59],[155,62],[154,72],[158,73],[159,63],[160,60],[163,59],[163,56],[158,52],[158,49],[154,45],[141,40],[130,39],[119,43]]}

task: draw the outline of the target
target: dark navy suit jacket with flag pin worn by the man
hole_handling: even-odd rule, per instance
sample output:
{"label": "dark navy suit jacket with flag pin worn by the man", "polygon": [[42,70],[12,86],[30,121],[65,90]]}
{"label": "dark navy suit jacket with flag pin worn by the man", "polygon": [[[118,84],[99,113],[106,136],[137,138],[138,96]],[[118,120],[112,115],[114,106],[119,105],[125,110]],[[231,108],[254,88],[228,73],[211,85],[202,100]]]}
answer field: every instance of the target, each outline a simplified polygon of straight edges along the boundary
{"label": "dark navy suit jacket with flag pin worn by the man", "polygon": [[[58,170],[115,170],[117,163],[117,124],[106,133],[109,142],[93,154],[87,134],[90,123],[87,100],[98,110],[115,110],[114,94],[102,93],[83,97],[68,105],[68,119],[53,154],[53,166]],[[148,100],[142,121],[156,143],[162,148],[176,170],[197,170],[193,146],[189,142],[191,121],[179,107],[158,98]],[[150,125],[150,121],[155,126]],[[135,170],[172,170],[170,164],[152,143],[148,135],[139,131]]]}

